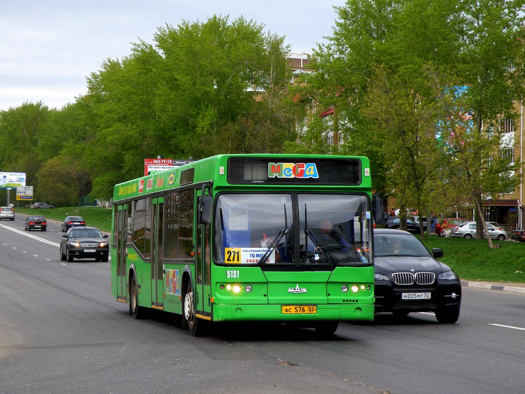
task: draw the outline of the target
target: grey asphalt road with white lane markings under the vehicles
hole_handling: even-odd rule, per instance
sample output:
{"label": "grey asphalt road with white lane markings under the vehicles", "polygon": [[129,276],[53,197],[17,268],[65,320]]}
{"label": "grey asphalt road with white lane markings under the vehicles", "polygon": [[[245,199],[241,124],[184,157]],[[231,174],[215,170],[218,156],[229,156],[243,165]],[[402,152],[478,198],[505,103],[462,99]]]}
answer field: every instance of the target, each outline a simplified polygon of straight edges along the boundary
{"label": "grey asphalt road with white lane markings under the vehicles", "polygon": [[433,314],[283,325],[194,338],[170,316],[134,320],[109,263],[61,262],[59,224],[0,222],[0,393],[525,392],[525,294],[465,286],[458,323]]}

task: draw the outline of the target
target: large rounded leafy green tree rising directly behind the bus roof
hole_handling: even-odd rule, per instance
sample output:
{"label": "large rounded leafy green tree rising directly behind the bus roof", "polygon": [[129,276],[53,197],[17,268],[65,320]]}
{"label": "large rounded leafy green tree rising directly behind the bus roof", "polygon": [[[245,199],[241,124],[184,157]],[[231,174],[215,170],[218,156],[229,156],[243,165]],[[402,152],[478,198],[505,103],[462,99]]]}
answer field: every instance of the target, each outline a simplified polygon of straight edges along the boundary
{"label": "large rounded leafy green tree rising directly behind the bus roof", "polygon": [[134,44],[91,74],[79,105],[93,133],[76,154],[93,174],[92,193],[109,198],[114,183],[142,175],[144,158],[281,149],[291,138],[287,48],[262,29],[217,16],[165,26],[154,46]]}

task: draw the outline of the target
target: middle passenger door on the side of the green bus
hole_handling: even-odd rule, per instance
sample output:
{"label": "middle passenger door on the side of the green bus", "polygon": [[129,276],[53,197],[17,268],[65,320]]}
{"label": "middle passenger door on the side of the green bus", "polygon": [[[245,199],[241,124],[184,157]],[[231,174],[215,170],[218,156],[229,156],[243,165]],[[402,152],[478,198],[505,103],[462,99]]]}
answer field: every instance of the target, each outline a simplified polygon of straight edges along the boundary
{"label": "middle passenger door on the side of the green bus", "polygon": [[151,216],[151,306],[164,308],[162,239],[163,239],[164,198],[153,199]]}

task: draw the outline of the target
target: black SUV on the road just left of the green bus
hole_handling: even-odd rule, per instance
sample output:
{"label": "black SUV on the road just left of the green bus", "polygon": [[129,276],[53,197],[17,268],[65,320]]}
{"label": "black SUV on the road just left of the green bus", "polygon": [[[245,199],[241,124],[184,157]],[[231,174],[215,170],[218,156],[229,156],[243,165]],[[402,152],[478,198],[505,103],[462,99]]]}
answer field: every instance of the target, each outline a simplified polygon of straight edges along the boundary
{"label": "black SUV on the road just left of the green bus", "polygon": [[109,243],[107,234],[102,235],[97,227],[71,227],[60,241],[60,260],[69,263],[74,258],[94,258],[107,262]]}

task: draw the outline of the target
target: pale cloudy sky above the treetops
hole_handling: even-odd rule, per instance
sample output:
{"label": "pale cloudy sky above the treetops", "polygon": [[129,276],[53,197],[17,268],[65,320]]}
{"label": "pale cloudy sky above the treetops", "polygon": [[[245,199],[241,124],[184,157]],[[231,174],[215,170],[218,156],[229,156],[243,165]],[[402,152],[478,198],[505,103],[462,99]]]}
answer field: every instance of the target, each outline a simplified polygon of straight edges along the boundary
{"label": "pale cloudy sky above the treetops", "polygon": [[292,53],[311,53],[331,36],[345,0],[0,0],[0,110],[41,101],[62,108],[87,93],[106,59],[153,44],[158,27],[213,15],[239,16],[285,36]]}

